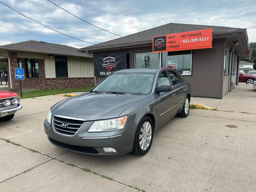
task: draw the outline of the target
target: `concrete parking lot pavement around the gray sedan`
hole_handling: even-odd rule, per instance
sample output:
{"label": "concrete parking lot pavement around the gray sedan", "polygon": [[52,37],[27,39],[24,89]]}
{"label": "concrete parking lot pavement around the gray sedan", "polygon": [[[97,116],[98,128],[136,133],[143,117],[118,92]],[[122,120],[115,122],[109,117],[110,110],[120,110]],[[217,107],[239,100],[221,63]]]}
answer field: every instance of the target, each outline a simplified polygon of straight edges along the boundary
{"label": "concrete parking lot pavement around the gray sedan", "polygon": [[21,99],[0,122],[0,191],[255,191],[256,92],[240,83],[223,99],[155,131],[149,153],[97,157],[52,145],[43,121],[66,97]]}

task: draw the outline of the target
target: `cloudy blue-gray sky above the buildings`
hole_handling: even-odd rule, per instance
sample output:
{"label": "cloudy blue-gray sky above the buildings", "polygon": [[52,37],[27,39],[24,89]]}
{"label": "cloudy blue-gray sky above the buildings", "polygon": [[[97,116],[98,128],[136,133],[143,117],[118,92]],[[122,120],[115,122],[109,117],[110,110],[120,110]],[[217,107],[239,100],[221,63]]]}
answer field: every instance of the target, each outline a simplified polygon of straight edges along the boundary
{"label": "cloudy blue-gray sky above the buildings", "polygon": [[[44,25],[83,41],[100,43],[118,38],[75,18],[47,0],[0,1]],[[247,28],[249,42],[256,41],[255,0],[51,1],[96,26],[122,36],[173,22]],[[47,29],[1,3],[0,10],[0,45],[27,40],[77,48],[92,45]]]}

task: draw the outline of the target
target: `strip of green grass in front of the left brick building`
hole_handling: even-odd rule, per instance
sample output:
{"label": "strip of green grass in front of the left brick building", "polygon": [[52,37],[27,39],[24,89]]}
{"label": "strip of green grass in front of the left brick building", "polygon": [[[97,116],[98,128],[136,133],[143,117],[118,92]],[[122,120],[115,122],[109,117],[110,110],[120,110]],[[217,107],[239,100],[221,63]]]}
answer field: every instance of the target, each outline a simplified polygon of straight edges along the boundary
{"label": "strip of green grass in front of the left brick building", "polygon": [[22,97],[20,92],[17,94],[21,99],[24,98],[34,98],[45,95],[55,95],[60,93],[71,93],[71,92],[86,92],[91,90],[93,87],[78,87],[78,88],[67,88],[67,89],[44,89],[44,90],[36,90],[36,91],[26,91],[22,92]]}

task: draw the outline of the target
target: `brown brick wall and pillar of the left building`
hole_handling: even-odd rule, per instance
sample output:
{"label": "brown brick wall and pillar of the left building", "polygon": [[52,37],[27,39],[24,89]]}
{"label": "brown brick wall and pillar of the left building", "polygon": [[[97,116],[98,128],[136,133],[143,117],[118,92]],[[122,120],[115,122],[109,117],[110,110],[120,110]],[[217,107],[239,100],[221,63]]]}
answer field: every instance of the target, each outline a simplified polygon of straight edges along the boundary
{"label": "brown brick wall and pillar of the left building", "polygon": [[[17,67],[17,54],[9,53],[11,63],[11,77],[13,92],[19,91],[19,80],[15,79],[14,68]],[[22,68],[24,69],[25,79],[21,80],[22,88],[29,89],[62,89],[74,87],[91,87],[94,85],[94,77],[61,77],[61,78],[45,78],[45,62],[43,59],[38,59],[38,76],[39,78],[27,78],[27,70],[25,58],[21,58]],[[9,69],[8,69],[9,71]],[[9,76],[8,76],[9,78]],[[8,79],[8,82],[9,79]]]}

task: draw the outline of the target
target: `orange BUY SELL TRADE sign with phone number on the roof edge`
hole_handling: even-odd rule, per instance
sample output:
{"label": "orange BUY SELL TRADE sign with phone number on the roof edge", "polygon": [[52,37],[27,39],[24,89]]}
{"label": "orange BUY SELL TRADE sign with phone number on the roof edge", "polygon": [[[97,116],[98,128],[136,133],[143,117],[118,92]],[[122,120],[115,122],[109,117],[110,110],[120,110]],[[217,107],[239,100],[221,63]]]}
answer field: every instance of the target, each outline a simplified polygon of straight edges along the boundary
{"label": "orange BUY SELL TRADE sign with phone number on the roof edge", "polygon": [[187,31],[153,37],[153,53],[211,48],[213,29]]}

